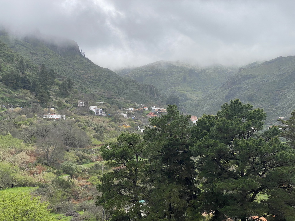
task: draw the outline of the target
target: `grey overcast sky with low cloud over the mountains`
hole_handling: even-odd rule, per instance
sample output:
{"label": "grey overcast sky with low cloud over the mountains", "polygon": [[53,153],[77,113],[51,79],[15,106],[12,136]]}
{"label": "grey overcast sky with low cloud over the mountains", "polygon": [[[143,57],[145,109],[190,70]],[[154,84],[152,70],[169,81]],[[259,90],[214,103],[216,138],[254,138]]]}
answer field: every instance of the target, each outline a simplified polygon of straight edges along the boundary
{"label": "grey overcast sky with low cloud over the mountains", "polygon": [[75,40],[101,67],[295,55],[294,0],[0,0],[0,23]]}

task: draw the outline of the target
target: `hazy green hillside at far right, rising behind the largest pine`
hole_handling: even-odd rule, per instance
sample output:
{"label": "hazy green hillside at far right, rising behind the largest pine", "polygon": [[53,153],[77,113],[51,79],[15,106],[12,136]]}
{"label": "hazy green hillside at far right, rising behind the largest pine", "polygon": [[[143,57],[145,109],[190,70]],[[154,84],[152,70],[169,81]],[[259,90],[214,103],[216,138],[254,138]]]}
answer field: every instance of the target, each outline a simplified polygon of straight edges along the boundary
{"label": "hazy green hillside at far right, rising behind the largest pine", "polygon": [[216,113],[217,107],[239,98],[263,108],[268,121],[290,116],[295,108],[295,56],[277,57],[240,68],[218,90],[196,100],[196,114]]}

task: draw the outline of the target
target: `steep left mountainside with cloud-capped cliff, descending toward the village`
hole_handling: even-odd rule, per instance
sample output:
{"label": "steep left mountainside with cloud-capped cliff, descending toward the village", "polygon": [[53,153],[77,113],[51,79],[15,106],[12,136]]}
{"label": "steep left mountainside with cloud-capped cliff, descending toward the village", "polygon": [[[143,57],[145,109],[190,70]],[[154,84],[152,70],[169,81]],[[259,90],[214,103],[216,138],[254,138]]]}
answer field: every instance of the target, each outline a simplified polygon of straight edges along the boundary
{"label": "steep left mountainside with cloud-capped cliff, descending toward the village", "polygon": [[41,34],[22,39],[0,33],[0,40],[13,51],[37,65],[53,68],[58,78],[71,77],[78,89],[98,98],[124,98],[136,103],[158,102],[160,92],[153,85],[141,85],[135,80],[116,75],[84,57],[73,40],[47,37]]}

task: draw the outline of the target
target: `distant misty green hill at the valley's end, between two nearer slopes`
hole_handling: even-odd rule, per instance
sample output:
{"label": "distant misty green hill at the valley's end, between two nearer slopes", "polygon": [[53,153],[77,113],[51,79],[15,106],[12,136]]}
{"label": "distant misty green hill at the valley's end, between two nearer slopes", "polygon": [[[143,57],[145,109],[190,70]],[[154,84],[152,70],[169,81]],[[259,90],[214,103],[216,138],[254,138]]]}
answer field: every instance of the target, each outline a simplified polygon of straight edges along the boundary
{"label": "distant misty green hill at the valley's end, between two nearer slopes", "polygon": [[217,90],[236,71],[221,65],[201,68],[182,62],[158,61],[133,69],[117,70],[116,73],[152,84],[166,95],[178,95],[183,110],[194,114],[194,101]]}

